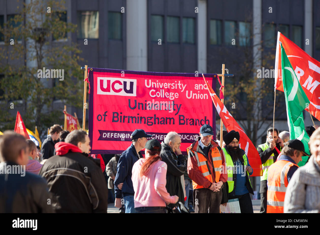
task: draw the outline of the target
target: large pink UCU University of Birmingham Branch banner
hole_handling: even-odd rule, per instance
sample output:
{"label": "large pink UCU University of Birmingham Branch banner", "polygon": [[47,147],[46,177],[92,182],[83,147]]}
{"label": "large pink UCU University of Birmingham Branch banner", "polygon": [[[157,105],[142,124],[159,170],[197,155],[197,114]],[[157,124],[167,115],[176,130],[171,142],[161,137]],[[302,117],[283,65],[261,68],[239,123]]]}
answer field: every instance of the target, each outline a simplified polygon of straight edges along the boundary
{"label": "large pink UCU University of Birmingham Branch banner", "polygon": [[[160,142],[170,131],[181,137],[181,151],[212,126],[215,108],[197,74],[88,68],[90,153],[122,153],[135,129]],[[216,87],[216,74],[206,74]],[[214,137],[215,139],[215,137]]]}

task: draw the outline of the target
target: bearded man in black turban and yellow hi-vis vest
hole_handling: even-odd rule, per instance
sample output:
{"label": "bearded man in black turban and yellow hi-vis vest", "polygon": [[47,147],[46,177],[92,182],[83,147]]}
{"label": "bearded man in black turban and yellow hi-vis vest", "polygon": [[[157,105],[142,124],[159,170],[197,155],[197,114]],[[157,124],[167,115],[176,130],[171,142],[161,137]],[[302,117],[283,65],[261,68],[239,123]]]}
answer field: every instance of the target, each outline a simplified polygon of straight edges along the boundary
{"label": "bearded man in black turban and yellow hi-vis vest", "polygon": [[231,130],[223,137],[222,149],[228,172],[228,199],[239,199],[241,213],[253,213],[250,194],[253,194],[249,175],[253,170],[243,149],[239,147],[239,132]]}

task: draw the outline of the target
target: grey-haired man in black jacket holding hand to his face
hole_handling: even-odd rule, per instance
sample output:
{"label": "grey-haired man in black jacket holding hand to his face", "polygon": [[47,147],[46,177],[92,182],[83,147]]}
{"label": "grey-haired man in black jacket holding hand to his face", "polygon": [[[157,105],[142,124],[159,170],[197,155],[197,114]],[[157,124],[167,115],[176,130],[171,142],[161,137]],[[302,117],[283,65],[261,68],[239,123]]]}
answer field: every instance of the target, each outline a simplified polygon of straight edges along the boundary
{"label": "grey-haired man in black jacket holding hand to his face", "polygon": [[[165,185],[170,196],[177,195],[178,202],[184,204],[185,188],[184,176],[187,158],[183,156],[180,150],[181,138],[177,132],[171,131],[161,143],[161,161],[167,163],[167,184]],[[170,205],[173,207],[173,205]]]}

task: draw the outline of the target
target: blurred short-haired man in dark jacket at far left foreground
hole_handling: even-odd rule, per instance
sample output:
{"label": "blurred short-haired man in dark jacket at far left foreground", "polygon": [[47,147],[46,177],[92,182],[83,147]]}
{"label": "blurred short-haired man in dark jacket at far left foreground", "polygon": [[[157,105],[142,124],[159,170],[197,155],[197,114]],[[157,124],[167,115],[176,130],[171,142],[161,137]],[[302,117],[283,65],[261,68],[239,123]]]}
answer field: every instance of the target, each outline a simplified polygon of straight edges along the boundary
{"label": "blurred short-haired man in dark jacket at far left foreground", "polygon": [[25,171],[25,138],[5,131],[0,139],[0,213],[51,213],[51,196],[45,180]]}

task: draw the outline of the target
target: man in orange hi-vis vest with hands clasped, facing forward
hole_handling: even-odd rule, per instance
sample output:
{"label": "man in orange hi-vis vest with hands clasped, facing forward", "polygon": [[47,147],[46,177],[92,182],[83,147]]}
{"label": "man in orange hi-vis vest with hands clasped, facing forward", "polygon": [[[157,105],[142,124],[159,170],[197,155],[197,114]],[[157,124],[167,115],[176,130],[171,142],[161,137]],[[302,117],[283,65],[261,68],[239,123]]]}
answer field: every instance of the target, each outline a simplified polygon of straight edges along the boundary
{"label": "man in orange hi-vis vest with hands clasped, facing forward", "polygon": [[222,185],[227,181],[225,158],[217,142],[212,140],[212,127],[204,124],[200,137],[187,148],[188,176],[192,180],[193,204],[196,213],[219,213]]}

